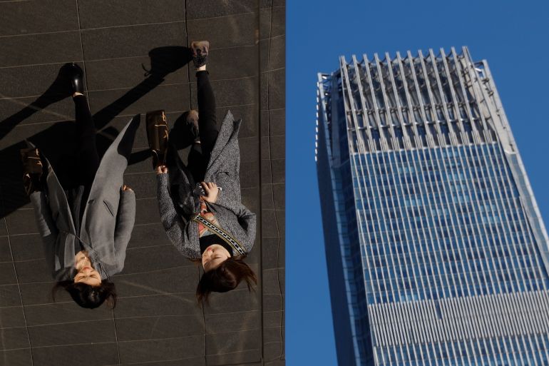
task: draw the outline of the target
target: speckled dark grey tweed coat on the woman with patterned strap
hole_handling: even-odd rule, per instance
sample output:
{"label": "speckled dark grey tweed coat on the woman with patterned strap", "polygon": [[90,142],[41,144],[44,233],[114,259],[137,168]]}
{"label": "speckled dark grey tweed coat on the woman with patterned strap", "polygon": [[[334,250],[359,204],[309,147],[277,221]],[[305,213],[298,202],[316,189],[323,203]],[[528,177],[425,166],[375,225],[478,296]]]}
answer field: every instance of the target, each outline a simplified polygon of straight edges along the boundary
{"label": "speckled dark grey tweed coat on the woman with patterned strap", "polygon": [[[216,183],[222,188],[216,202],[206,202],[206,205],[220,227],[236,238],[249,253],[254,245],[256,218],[255,213],[242,205],[240,197],[239,128],[240,120],[235,121],[228,111],[215,141],[204,181]],[[168,173],[157,176],[160,218],[168,238],[180,253],[186,258],[200,258],[198,225],[191,220],[191,215],[200,212],[200,198],[193,193],[193,177],[173,146],[170,146],[169,153],[171,158],[168,162],[172,163],[168,163]]]}

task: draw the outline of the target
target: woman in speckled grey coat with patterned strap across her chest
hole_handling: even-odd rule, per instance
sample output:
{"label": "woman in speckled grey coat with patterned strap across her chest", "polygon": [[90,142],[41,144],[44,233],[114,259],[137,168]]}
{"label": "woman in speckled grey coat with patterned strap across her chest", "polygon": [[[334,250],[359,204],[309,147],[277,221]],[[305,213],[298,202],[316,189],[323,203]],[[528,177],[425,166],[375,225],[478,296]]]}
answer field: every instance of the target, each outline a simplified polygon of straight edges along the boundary
{"label": "woman in speckled grey coat with patterned strap across her chest", "polygon": [[[200,261],[204,268],[197,286],[200,303],[212,291],[232,290],[242,280],[249,289],[252,283],[257,283],[255,273],[242,260],[254,245],[256,217],[241,203],[240,121],[235,121],[229,111],[219,126],[206,71],[209,43],[193,42],[191,48],[197,70],[198,113],[190,111],[187,117],[195,138],[188,166],[180,160],[171,139],[177,133],[175,130],[170,132],[165,163],[154,148],[153,155],[160,217],[168,238],[180,253]],[[154,117],[154,113],[149,117]],[[149,119],[148,125],[159,125]],[[163,126],[167,128],[165,122]]]}

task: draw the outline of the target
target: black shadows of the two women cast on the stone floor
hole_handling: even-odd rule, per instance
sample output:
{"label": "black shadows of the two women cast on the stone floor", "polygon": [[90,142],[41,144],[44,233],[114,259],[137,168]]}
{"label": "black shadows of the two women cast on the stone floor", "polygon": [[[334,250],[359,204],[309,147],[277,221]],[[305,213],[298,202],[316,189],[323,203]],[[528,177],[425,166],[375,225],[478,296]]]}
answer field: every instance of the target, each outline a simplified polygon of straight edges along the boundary
{"label": "black shadows of the two women cast on the stone floor", "polygon": [[[159,86],[164,81],[165,76],[182,68],[193,59],[192,51],[188,47],[183,46],[158,47],[149,51],[149,57],[150,69],[146,70],[143,66],[145,70],[143,81],[93,115],[93,121],[98,131],[97,148],[100,156],[103,156],[108,146],[118,136],[118,130],[113,126],[108,126],[108,124],[119,113],[124,111],[125,108],[128,108],[128,106],[131,106],[145,96],[145,94]],[[0,121],[0,140],[5,138],[19,123],[31,117],[34,113],[61,101],[63,98],[69,98],[70,93],[68,91],[70,91],[70,88],[68,85],[70,85],[68,77],[63,68],[61,68],[58,76],[46,92],[39,96],[39,98],[36,98],[31,104],[22,108],[21,111]],[[128,120],[129,118],[130,116],[128,116]],[[21,141],[0,151],[0,169],[2,172],[0,174],[0,189],[4,197],[3,205],[0,205],[0,218],[4,218],[9,213],[29,203],[29,198],[27,198],[23,189],[23,168],[19,153],[21,148],[26,148],[26,140],[31,141],[31,143],[40,148],[48,156],[51,165],[56,170],[57,166],[64,166],[65,164],[74,166],[72,152],[76,150],[76,146],[73,138],[68,136],[74,136],[73,118],[69,121],[54,123],[45,130],[33,136],[21,138]],[[150,153],[146,150],[132,153],[128,165],[139,163],[149,157]],[[58,169],[56,171],[62,170]],[[67,174],[69,173],[67,172]],[[61,183],[68,179],[66,176],[58,178]]]}

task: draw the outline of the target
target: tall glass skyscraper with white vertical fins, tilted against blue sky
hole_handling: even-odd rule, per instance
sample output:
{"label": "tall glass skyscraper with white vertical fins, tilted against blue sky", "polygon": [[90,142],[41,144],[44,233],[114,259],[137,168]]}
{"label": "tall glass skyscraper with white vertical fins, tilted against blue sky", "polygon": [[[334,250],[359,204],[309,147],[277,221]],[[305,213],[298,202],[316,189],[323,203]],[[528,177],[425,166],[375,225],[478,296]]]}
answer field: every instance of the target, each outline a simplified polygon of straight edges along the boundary
{"label": "tall glass skyscraper with white vertical fins, tilted against blue sky", "polygon": [[342,56],[317,108],[339,365],[549,365],[548,235],[488,63]]}

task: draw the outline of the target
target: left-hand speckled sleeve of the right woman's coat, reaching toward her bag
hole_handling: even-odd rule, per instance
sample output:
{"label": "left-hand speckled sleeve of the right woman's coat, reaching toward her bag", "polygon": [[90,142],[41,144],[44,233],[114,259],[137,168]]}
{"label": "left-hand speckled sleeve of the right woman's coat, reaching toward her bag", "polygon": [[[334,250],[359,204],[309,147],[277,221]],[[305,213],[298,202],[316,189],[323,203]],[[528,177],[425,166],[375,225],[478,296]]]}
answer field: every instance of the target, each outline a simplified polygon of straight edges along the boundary
{"label": "left-hand speckled sleeve of the right woman's coat, reaching toward her bag", "polygon": [[187,258],[194,258],[193,245],[191,240],[191,220],[183,220],[181,215],[175,210],[173,200],[168,190],[168,174],[159,174],[157,176],[157,195],[158,209],[160,210],[160,220],[170,241],[178,248],[180,253]]}

